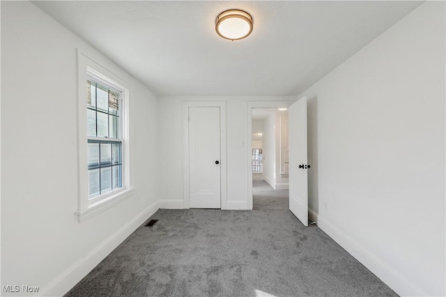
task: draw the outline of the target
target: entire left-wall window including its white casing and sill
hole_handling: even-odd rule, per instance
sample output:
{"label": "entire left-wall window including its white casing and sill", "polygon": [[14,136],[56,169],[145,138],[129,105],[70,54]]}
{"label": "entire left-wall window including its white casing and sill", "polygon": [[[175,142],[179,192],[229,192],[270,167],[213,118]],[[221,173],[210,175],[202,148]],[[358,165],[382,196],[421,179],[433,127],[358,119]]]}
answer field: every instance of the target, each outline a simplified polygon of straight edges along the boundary
{"label": "entire left-wall window including its white casing and sill", "polygon": [[[134,191],[130,146],[130,84],[126,73],[77,51],[77,158],[79,222]],[[104,65],[104,66],[102,66]],[[105,68],[107,66],[108,68]],[[113,73],[109,69],[114,69]]]}

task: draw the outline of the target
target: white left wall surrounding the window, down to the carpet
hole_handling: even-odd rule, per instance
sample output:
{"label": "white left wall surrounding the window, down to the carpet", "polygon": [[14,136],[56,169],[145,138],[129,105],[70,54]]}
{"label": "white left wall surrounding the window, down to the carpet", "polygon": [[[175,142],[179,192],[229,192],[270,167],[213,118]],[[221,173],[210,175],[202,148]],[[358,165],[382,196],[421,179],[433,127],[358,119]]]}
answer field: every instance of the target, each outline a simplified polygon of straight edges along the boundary
{"label": "white left wall surrounding the window, down to the carpet", "polygon": [[[132,197],[80,224],[74,215],[78,47],[132,85],[137,187]],[[151,91],[32,3],[1,1],[2,285],[64,294],[156,211],[156,110]]]}

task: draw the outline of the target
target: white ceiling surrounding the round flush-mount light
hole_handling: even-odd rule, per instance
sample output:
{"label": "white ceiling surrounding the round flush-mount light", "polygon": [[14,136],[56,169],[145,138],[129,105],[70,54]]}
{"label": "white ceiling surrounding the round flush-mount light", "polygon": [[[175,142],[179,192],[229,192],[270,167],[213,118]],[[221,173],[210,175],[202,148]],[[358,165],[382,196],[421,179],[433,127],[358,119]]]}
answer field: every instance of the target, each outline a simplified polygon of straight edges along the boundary
{"label": "white ceiling surrounding the round flush-mount light", "polygon": [[[34,1],[159,95],[298,95],[420,1]],[[215,17],[254,18],[244,40]]]}

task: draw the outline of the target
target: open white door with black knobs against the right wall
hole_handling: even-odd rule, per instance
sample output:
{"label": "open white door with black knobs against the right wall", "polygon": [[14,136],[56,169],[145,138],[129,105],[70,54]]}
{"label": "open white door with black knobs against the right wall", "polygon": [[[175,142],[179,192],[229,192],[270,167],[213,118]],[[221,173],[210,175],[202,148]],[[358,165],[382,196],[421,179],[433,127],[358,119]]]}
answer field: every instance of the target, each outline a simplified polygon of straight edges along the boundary
{"label": "open white door with black knobs against the right wall", "polygon": [[288,109],[290,211],[308,226],[307,98]]}

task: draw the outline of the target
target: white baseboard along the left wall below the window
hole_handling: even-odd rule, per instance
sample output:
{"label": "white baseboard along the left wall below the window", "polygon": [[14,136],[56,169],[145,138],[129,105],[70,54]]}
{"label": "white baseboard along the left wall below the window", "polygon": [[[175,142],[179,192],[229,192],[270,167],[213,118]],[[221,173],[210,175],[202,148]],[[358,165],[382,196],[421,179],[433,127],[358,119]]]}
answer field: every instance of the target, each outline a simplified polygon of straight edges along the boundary
{"label": "white baseboard along the left wall below the window", "polygon": [[66,294],[157,210],[158,202],[148,206],[148,208],[141,211],[141,213],[139,213],[133,220],[118,229],[105,241],[102,241],[102,243],[91,250],[89,254],[86,254],[85,257],[79,259],[79,261],[66,269],[66,271],[63,271],[61,275],[49,282],[49,284],[39,291],[39,294],[41,294],[41,296],[63,296]]}

